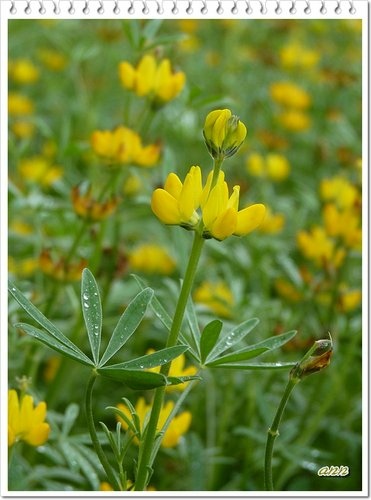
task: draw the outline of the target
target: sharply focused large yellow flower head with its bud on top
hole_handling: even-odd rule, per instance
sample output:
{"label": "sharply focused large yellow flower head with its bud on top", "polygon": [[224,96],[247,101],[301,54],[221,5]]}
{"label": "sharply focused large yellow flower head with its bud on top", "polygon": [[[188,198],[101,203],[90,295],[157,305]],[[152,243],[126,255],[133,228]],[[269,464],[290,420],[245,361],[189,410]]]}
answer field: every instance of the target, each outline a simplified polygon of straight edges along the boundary
{"label": "sharply focused large yellow flower head with its bud on top", "polygon": [[[234,154],[245,136],[246,127],[229,110],[216,110],[206,117],[205,142],[217,161]],[[195,230],[204,238],[244,236],[261,224],[265,207],[257,203],[239,210],[240,186],[230,193],[224,178],[222,170],[213,169],[203,184],[201,168],[192,166],[182,183],[172,172],[164,188],[154,191],[152,210],[164,224]]]}

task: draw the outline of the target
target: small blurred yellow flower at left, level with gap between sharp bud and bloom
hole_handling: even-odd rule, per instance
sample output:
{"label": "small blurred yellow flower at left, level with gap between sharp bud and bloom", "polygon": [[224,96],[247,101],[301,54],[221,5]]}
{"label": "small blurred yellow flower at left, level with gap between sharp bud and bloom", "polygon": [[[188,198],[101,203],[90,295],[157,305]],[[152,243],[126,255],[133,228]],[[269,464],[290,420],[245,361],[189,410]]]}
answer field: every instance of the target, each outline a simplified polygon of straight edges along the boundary
{"label": "small blurred yellow flower at left, level with gap between sharp bud and bloom", "polygon": [[27,180],[50,186],[62,177],[63,169],[52,165],[43,156],[25,158],[18,164],[20,174]]}

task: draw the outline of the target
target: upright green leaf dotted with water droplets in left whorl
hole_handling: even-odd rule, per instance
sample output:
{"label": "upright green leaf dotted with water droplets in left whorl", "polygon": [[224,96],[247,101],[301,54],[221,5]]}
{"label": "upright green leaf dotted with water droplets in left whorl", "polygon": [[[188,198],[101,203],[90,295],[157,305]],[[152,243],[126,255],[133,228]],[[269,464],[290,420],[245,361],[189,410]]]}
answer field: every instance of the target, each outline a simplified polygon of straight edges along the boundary
{"label": "upright green leaf dotted with water droplets in left whorl", "polygon": [[99,363],[102,336],[102,304],[97,282],[89,269],[82,272],[81,305],[94,363]]}

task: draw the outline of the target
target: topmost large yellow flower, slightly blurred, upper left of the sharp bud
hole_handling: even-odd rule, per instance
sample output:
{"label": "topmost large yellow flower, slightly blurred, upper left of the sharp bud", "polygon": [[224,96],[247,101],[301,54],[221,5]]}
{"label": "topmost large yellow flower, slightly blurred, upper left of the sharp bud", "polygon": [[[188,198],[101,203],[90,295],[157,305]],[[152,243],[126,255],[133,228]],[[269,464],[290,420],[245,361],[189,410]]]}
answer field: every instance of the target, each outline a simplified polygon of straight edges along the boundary
{"label": "topmost large yellow flower, slightly blurred, upper left of the sharp bud", "polygon": [[145,55],[134,68],[127,61],[119,65],[121,84],[138,96],[151,96],[160,104],[171,101],[183,89],[185,74],[182,71],[173,73],[169,59],[159,64],[152,55]]}

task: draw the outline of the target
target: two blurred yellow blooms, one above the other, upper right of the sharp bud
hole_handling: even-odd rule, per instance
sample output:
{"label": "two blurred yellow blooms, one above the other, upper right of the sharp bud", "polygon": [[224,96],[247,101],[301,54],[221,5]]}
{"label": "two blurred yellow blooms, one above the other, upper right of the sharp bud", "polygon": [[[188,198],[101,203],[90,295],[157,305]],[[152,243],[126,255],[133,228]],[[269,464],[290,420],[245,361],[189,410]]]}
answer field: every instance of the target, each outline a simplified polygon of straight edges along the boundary
{"label": "two blurred yellow blooms, one above the other, upper right of the sharp bud", "polygon": [[280,105],[277,119],[287,130],[300,132],[310,127],[307,113],[311,105],[309,94],[292,82],[275,82],[270,86],[273,101]]}

